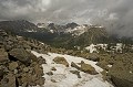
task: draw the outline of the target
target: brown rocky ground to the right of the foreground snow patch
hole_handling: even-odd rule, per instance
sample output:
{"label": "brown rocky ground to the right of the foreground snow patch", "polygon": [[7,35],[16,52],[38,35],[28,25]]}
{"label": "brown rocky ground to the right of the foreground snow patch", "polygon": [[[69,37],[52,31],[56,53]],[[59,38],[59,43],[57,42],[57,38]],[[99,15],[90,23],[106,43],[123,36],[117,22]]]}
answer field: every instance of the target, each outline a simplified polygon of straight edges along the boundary
{"label": "brown rocky ground to the right of the foreground snow patch", "polygon": [[116,87],[133,87],[133,53],[104,54],[96,65]]}

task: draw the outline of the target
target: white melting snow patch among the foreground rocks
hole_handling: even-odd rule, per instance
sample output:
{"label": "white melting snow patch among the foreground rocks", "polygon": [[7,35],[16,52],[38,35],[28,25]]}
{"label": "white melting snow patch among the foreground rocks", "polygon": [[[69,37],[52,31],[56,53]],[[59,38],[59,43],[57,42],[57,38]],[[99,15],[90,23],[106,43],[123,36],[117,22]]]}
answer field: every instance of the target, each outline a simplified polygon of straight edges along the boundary
{"label": "white melting snow patch among the foreground rocks", "polygon": [[[45,78],[44,87],[113,87],[111,84],[102,79],[101,74],[90,75],[80,72],[81,78],[78,78],[76,75],[70,73],[70,70],[76,70],[74,67],[71,67],[71,62],[80,63],[81,61],[92,65],[95,68],[95,70],[100,73],[103,69],[95,65],[96,62],[88,61],[82,57],[75,57],[75,56],[62,55],[55,53],[48,53],[48,55],[39,54],[34,51],[31,51],[31,53],[37,55],[37,57],[42,56],[47,61],[47,64],[43,64],[43,72]],[[57,56],[64,57],[69,63],[69,67],[65,67],[62,64],[55,64],[52,59]],[[52,70],[53,75],[51,76],[47,75],[45,73],[50,72],[52,67],[55,67],[57,70],[55,72]],[[51,81],[51,79],[54,79],[55,83]]]}

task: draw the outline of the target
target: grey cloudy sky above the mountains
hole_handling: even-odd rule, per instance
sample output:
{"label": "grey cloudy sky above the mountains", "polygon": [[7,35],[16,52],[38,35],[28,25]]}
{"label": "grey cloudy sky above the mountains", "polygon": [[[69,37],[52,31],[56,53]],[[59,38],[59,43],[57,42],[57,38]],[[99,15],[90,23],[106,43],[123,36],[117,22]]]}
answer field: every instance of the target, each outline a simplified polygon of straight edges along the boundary
{"label": "grey cloudy sky above the mountains", "polygon": [[133,0],[0,0],[0,20],[100,24],[133,35]]}

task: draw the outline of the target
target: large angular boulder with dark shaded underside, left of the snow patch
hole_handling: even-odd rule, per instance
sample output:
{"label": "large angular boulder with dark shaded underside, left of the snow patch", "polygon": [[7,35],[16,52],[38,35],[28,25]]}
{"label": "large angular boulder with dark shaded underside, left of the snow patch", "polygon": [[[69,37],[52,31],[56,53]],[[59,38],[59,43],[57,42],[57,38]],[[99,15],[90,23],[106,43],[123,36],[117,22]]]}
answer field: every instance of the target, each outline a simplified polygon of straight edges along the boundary
{"label": "large angular boulder with dark shaded underside, left of the snow patch", "polygon": [[24,64],[30,64],[32,61],[38,61],[38,58],[31,54],[30,52],[25,51],[24,48],[13,48],[9,52],[9,58],[12,61],[17,59]]}

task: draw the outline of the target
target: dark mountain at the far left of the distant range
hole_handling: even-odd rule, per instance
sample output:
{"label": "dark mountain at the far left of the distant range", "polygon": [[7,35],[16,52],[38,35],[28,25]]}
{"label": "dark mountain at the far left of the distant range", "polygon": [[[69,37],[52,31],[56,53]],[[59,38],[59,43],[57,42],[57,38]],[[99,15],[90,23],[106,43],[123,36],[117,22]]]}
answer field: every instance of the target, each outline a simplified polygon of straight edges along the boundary
{"label": "dark mountain at the far left of the distant range", "polygon": [[16,20],[16,21],[1,21],[0,29],[17,32],[35,32],[38,30],[37,25],[25,21],[25,20]]}

